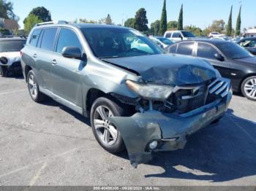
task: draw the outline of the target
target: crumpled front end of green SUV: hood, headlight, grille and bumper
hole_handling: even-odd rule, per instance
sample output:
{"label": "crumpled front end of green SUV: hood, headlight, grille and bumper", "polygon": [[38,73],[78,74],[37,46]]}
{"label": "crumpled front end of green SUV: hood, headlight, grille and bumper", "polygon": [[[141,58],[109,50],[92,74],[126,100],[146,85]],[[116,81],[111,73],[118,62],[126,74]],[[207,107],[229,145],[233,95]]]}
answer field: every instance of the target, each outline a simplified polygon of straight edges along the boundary
{"label": "crumpled front end of green SUV: hood, headlight, grille and bumper", "polygon": [[140,76],[139,82],[125,81],[138,98],[113,93],[138,112],[129,117],[109,117],[135,167],[151,160],[152,152],[183,149],[187,136],[225,114],[232,97],[230,80],[196,58],[154,55],[104,61]]}

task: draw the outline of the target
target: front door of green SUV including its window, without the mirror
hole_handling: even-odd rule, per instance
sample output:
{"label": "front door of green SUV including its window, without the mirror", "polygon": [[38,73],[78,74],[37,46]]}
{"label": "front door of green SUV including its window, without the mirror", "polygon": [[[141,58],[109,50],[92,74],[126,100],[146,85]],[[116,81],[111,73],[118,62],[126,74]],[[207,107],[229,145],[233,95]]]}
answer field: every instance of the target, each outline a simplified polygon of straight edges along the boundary
{"label": "front door of green SUV including its window, without the mirror", "polygon": [[83,52],[78,34],[72,28],[61,28],[56,50],[52,57],[51,84],[53,93],[65,101],[82,107],[82,77],[80,74],[85,66],[84,61],[64,58],[61,52],[64,47],[79,47]]}

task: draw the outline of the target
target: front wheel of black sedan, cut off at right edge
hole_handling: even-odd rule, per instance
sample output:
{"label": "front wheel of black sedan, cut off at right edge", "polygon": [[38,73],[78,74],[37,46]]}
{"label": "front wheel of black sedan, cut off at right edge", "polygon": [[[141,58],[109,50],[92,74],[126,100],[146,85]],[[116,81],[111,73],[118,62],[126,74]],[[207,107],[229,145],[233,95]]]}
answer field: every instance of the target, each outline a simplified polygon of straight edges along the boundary
{"label": "front wheel of black sedan, cut off at right edge", "polygon": [[256,101],[256,76],[247,77],[241,85],[241,92],[249,100]]}

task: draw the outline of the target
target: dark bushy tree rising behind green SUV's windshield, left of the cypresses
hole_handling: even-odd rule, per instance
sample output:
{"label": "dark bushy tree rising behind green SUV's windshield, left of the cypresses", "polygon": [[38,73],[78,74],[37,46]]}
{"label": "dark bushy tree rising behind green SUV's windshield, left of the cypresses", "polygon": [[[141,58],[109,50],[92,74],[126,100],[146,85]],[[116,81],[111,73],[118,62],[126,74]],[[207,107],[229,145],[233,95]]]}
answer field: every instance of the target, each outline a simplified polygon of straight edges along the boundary
{"label": "dark bushy tree rising behind green SUV's windshield, left of the cypresses", "polygon": [[135,15],[135,29],[138,31],[148,31],[148,19],[146,16],[146,9],[140,8]]}

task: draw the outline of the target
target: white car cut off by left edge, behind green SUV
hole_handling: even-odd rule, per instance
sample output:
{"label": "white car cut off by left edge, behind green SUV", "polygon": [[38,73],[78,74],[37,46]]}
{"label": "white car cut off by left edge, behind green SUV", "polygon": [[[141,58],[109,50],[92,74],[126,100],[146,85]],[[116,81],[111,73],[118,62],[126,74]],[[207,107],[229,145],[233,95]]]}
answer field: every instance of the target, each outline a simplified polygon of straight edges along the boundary
{"label": "white car cut off by left edge, behind green SUV", "polygon": [[26,44],[26,39],[0,38],[0,77],[8,74],[21,74],[20,50]]}

